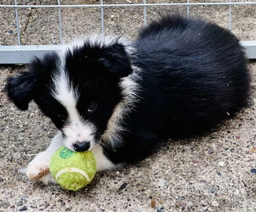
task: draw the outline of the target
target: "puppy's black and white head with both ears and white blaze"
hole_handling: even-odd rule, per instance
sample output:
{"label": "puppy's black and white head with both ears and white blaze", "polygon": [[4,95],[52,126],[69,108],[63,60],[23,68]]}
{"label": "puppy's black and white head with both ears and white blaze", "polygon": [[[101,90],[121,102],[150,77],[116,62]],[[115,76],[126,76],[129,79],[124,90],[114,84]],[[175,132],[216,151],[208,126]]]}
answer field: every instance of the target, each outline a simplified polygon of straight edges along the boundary
{"label": "puppy's black and white head with both ears and white blaze", "polygon": [[9,77],[6,92],[21,110],[34,100],[62,131],[64,145],[86,151],[100,141],[122,101],[121,78],[132,73],[125,42],[86,38],[62,52],[36,58]]}

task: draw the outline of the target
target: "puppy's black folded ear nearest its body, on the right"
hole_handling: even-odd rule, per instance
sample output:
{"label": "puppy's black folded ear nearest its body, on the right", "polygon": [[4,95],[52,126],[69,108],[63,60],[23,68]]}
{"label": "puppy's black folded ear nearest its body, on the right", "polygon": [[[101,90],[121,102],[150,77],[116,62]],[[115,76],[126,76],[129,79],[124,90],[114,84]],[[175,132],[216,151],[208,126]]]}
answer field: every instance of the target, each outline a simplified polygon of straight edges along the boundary
{"label": "puppy's black folded ear nearest its body, on the right", "polygon": [[97,61],[119,77],[132,73],[130,56],[122,44],[116,43],[103,48]]}

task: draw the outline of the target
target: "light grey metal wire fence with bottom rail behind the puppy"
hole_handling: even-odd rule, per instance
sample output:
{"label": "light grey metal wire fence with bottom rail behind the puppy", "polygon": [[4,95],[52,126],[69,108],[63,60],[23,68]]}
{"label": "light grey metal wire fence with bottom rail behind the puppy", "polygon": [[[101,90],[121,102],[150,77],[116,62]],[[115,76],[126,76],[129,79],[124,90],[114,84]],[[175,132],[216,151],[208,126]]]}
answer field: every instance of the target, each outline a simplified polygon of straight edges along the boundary
{"label": "light grey metal wire fence with bottom rail behind the puppy", "polygon": [[[128,1],[129,2],[129,1]],[[33,55],[43,55],[47,52],[58,51],[63,45],[62,34],[62,8],[100,8],[101,12],[101,33],[105,34],[104,25],[104,8],[107,7],[143,7],[144,8],[144,25],[147,25],[147,7],[150,6],[186,6],[187,15],[190,15],[190,6],[229,6],[228,28],[232,29],[232,6],[235,5],[255,5],[253,1],[241,1],[241,2],[205,2],[205,3],[193,3],[187,0],[186,3],[147,3],[147,0],[143,0],[143,3],[129,3],[129,4],[104,4],[103,0],[100,0],[100,4],[79,4],[68,5],[61,4],[60,0],[57,0],[56,5],[18,5],[18,0],[14,0],[14,5],[0,4],[1,8],[15,8],[15,18],[18,36],[18,46],[0,46],[0,64],[14,64],[14,63],[28,63]],[[21,32],[19,26],[19,13],[20,8],[58,8],[59,18],[59,38],[61,45],[21,45]],[[256,25],[256,20],[255,20]],[[256,29],[256,26],[255,26]],[[248,58],[256,58],[256,41],[241,41],[241,44],[245,47]]]}

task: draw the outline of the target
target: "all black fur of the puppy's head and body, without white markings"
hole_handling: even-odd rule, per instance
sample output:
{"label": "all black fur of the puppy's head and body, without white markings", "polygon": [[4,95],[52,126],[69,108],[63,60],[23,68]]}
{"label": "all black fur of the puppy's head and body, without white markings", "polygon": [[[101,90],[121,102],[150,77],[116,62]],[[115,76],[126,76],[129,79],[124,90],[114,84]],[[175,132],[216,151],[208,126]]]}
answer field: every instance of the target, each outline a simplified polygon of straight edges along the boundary
{"label": "all black fur of the puppy's head and body, without white markings", "polygon": [[[103,149],[113,163],[131,163],[150,154],[159,141],[209,131],[247,104],[249,72],[243,48],[226,29],[203,20],[162,15],[141,30],[128,55],[118,42],[108,46],[85,42],[68,52],[65,68],[80,93],[77,110],[106,131],[115,106],[125,101],[120,80],[139,67],[140,87],[133,110],[120,123],[123,142]],[[136,56],[136,59],[134,59]],[[36,59],[29,72],[9,78],[6,90],[20,109],[32,99],[61,130],[67,112],[50,94],[58,54]],[[90,102],[97,110],[88,113]]]}

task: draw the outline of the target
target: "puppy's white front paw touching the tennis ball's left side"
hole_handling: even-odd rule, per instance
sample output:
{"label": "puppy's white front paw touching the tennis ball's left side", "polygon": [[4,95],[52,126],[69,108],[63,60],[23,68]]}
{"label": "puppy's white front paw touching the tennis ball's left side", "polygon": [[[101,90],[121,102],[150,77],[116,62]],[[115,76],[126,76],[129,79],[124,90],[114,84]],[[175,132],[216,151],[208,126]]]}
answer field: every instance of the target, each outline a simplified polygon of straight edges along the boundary
{"label": "puppy's white front paw touching the tennis ball's left side", "polygon": [[30,180],[38,180],[44,184],[54,183],[54,179],[50,174],[50,154],[47,151],[40,152],[29,163],[26,170],[26,176]]}

